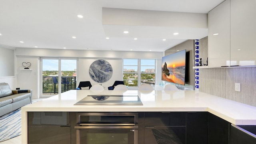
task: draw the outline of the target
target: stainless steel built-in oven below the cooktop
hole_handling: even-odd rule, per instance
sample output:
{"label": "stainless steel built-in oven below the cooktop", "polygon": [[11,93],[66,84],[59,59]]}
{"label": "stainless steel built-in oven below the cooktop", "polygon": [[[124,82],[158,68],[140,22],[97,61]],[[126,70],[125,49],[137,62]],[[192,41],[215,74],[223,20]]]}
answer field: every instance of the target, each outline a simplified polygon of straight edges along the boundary
{"label": "stainless steel built-in oven below the cooktop", "polygon": [[138,113],[79,112],[76,144],[138,144]]}

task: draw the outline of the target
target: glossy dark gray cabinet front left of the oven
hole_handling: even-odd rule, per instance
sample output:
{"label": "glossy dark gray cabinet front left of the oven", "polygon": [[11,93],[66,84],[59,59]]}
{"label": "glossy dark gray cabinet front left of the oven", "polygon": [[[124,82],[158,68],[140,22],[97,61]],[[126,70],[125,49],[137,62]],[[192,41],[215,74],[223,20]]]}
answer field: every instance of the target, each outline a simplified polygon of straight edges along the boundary
{"label": "glossy dark gray cabinet front left of the oven", "polygon": [[70,144],[68,112],[28,112],[28,144]]}

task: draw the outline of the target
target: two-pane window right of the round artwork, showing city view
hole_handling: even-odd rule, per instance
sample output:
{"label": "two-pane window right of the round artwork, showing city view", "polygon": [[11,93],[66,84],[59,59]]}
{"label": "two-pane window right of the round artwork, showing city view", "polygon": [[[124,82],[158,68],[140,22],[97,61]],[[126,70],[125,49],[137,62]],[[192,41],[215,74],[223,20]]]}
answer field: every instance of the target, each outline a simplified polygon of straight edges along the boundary
{"label": "two-pane window right of the round artwork, showing city view", "polygon": [[123,80],[126,86],[138,87],[148,83],[154,86],[155,59],[123,59]]}

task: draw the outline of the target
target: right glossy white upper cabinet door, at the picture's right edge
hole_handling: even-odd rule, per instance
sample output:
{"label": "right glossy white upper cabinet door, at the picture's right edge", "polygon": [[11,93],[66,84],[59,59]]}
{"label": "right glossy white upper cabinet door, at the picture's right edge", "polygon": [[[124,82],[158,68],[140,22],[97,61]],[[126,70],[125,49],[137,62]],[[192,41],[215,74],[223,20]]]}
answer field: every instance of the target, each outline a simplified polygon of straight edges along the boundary
{"label": "right glossy white upper cabinet door, at the picture's right edge", "polygon": [[230,1],[230,64],[256,65],[256,1]]}

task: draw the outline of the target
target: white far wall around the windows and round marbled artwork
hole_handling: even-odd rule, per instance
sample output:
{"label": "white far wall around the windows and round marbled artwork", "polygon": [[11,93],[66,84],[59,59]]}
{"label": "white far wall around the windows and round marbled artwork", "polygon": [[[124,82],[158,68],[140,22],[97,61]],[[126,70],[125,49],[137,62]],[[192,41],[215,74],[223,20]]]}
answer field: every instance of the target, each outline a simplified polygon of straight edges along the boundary
{"label": "white far wall around the windows and round marbled artwork", "polygon": [[[92,51],[92,50],[56,50],[40,48],[16,48],[17,87],[32,89],[33,98],[40,97],[40,57],[78,58],[77,82],[90,81],[98,84],[89,76],[89,67],[95,60],[108,61],[113,68],[113,75],[107,82],[102,83],[106,88],[112,86],[115,80],[122,80],[122,58],[154,58],[156,63],[156,84],[161,81],[163,52],[134,52],[134,51]],[[30,62],[31,70],[21,70],[22,62]]]}

